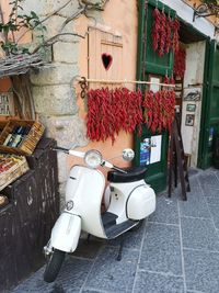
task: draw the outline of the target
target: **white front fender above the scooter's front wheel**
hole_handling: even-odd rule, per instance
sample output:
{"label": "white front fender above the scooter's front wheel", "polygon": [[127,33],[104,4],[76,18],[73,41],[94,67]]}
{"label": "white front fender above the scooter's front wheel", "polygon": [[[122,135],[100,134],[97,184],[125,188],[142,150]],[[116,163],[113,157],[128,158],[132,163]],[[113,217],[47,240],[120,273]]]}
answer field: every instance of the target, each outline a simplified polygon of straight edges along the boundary
{"label": "white front fender above the scooter's front wheel", "polygon": [[81,233],[81,217],[64,212],[57,219],[50,238],[50,247],[73,252]]}

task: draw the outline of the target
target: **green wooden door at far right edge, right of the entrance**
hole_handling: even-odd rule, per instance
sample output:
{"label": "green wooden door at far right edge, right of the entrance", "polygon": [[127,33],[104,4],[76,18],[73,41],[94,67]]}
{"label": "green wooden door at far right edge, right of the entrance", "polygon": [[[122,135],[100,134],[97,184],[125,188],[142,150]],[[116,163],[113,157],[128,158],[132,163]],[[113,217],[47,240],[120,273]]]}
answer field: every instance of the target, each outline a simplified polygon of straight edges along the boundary
{"label": "green wooden door at far right edge, right of the entrance", "polygon": [[219,134],[219,45],[206,42],[198,167],[212,165],[212,137]]}

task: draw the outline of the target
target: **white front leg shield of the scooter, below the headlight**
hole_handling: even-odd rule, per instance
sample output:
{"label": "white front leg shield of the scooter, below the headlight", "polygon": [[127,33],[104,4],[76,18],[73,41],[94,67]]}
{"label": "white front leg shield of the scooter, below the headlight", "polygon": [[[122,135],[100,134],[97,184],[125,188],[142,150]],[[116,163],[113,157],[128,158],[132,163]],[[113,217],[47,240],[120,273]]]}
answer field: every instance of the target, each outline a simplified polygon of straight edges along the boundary
{"label": "white front leg shield of the scooter, below the headlight", "polygon": [[81,216],[82,230],[106,238],[101,219],[101,202],[105,178],[99,170],[74,166],[67,181],[66,200],[73,201],[69,211]]}

